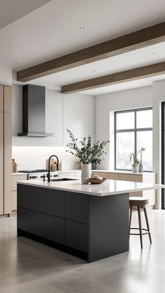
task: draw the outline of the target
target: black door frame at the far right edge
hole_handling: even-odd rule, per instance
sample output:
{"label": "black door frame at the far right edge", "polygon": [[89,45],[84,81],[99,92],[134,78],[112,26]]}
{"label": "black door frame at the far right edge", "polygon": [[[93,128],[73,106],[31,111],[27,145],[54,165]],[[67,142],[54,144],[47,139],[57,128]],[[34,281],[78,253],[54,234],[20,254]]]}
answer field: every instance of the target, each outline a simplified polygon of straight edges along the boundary
{"label": "black door frame at the far right edge", "polygon": [[[161,103],[161,184],[164,184],[165,168],[165,102]],[[164,188],[161,188],[161,208],[165,209]]]}

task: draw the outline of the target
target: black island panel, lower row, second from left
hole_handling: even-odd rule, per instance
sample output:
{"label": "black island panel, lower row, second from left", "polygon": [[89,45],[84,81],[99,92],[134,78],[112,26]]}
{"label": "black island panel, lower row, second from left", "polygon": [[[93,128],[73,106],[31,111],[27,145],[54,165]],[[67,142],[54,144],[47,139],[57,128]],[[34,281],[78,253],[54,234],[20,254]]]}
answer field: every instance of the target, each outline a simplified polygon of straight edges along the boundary
{"label": "black island panel, lower row, second from left", "polygon": [[45,214],[30,211],[29,232],[45,238]]}

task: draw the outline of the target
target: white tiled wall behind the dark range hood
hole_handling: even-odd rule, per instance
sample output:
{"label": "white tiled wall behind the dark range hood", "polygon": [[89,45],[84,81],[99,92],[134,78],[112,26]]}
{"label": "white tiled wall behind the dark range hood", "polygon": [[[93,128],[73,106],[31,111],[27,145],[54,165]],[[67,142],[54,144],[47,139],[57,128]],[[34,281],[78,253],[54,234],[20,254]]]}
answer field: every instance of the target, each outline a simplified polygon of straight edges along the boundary
{"label": "white tiled wall behind the dark range hood", "polygon": [[[22,86],[12,85],[12,146],[18,169],[46,168],[46,158],[53,149],[57,156],[59,153],[60,158],[65,160],[65,168],[76,168],[76,157],[65,152],[65,146],[70,141],[67,128],[78,141],[90,134],[95,142],[94,96],[77,93],[66,95],[46,89],[46,133],[58,133],[58,137],[18,137],[18,133],[22,132]],[[33,160],[39,160],[38,165],[33,165]]]}

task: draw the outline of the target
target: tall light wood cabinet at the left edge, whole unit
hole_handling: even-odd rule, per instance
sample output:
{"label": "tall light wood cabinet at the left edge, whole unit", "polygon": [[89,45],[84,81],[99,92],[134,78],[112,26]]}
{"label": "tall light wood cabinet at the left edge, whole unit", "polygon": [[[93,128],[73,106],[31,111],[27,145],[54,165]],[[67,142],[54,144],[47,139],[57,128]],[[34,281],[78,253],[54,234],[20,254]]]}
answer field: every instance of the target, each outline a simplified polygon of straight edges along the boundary
{"label": "tall light wood cabinet at the left edge, whole unit", "polygon": [[11,125],[11,86],[0,85],[0,215],[12,212]]}

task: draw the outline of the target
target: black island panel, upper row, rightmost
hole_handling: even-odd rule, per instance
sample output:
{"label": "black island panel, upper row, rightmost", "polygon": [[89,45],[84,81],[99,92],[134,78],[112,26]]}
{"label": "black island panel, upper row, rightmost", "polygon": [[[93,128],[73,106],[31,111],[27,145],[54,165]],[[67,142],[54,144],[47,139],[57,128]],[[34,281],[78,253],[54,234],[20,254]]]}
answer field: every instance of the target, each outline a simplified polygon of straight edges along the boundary
{"label": "black island panel, upper row, rightmost", "polygon": [[65,219],[87,224],[87,195],[67,191],[64,194]]}

